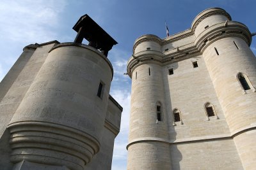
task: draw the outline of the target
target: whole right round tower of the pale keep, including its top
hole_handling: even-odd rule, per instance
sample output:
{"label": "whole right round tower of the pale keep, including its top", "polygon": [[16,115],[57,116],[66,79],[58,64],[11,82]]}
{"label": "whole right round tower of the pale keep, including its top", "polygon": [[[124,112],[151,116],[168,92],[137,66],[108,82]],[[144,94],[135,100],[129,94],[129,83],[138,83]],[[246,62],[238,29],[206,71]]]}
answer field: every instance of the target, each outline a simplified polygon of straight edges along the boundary
{"label": "whole right round tower of the pale keep, including its top", "polygon": [[[248,28],[231,21],[225,10],[211,8],[192,24],[244,169],[256,167],[256,59]],[[250,131],[250,132],[248,132]],[[250,156],[247,156],[250,155]]]}

